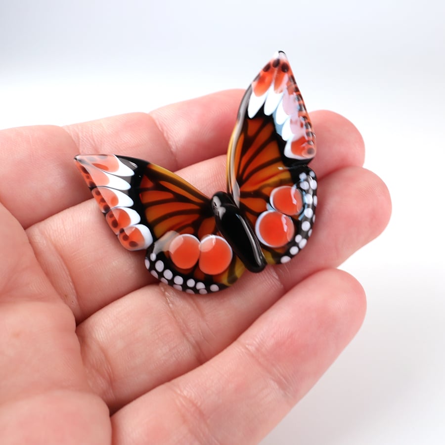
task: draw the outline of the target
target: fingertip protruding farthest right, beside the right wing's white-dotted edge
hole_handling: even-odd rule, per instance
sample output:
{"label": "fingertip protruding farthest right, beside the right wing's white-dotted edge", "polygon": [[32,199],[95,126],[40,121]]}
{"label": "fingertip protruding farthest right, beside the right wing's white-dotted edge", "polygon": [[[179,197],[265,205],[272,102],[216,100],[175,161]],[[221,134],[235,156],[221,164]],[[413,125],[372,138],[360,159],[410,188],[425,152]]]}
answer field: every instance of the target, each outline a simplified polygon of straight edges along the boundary
{"label": "fingertip protruding farthest right, beside the right wing's white-dotted edge", "polygon": [[297,271],[292,262],[275,269],[282,282],[288,282],[290,276],[302,279],[316,270],[339,266],[389,222],[389,191],[374,173],[350,167],[319,183],[320,204],[308,248],[298,254]]}

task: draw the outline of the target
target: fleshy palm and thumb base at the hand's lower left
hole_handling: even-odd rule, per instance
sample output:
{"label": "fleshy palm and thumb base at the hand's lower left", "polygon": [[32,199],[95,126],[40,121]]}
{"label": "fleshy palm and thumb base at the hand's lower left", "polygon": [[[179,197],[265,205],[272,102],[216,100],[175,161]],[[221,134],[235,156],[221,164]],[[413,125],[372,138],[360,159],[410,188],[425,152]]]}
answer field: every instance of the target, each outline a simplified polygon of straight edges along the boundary
{"label": "fleshy palm and thumb base at the hand's lower left", "polygon": [[38,267],[23,228],[2,205],[0,229],[1,443],[40,437],[60,443],[60,431],[75,443],[92,443],[93,436],[106,443],[108,410],[89,389],[73,314]]}

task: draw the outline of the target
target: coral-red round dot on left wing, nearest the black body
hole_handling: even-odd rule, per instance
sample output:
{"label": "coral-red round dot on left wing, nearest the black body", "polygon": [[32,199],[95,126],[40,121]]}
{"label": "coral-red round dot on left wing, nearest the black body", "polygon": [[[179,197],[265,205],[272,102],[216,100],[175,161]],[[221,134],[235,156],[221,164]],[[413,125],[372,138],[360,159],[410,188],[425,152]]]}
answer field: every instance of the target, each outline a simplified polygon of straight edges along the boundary
{"label": "coral-red round dot on left wing, nearest the black body", "polygon": [[209,275],[218,275],[229,267],[232,248],[221,236],[208,235],[201,240],[199,268]]}

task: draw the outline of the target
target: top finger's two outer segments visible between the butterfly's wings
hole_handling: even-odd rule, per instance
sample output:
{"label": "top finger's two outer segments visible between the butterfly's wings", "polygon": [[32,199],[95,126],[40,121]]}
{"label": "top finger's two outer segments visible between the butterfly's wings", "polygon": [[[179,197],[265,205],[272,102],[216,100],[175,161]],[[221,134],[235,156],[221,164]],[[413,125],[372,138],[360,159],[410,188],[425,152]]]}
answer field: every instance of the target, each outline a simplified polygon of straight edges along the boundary
{"label": "top finger's two outer segments visible between the butterfly's wings", "polygon": [[240,100],[240,90],[220,91],[149,114],[115,116],[65,129],[79,153],[123,154],[176,171],[227,150]]}

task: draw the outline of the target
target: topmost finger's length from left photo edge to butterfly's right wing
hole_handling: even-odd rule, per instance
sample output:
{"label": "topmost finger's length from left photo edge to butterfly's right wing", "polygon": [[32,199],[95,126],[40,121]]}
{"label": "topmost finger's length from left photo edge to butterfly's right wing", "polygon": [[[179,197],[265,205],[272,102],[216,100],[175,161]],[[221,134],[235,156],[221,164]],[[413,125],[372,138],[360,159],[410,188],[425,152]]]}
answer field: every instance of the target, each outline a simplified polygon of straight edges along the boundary
{"label": "topmost finger's length from left photo edge to butterfly's right wing", "polygon": [[[24,227],[91,195],[74,166],[79,153],[118,153],[169,170],[225,152],[240,91],[222,91],[150,114],[0,132],[0,201]],[[17,180],[19,178],[19,180]],[[12,186],[11,184],[14,184]]]}

